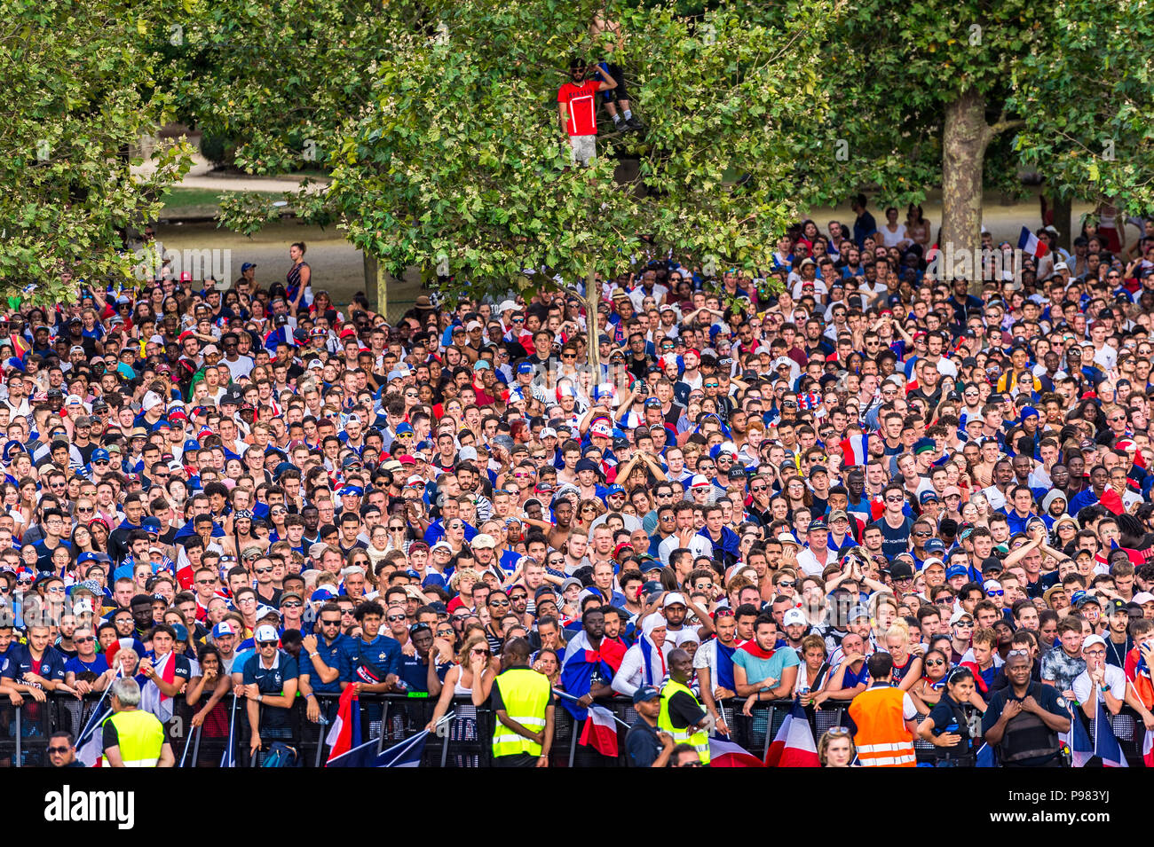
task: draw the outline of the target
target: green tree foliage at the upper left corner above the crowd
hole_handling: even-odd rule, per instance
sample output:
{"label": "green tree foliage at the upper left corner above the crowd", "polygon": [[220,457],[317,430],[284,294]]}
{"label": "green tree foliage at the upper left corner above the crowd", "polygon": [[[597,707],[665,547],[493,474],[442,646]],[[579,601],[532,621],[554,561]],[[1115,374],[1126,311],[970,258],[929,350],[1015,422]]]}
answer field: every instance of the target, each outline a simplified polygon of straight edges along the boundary
{"label": "green tree foliage at the upper left corner above the crowd", "polygon": [[[172,114],[153,86],[150,20],[130,3],[0,0],[0,280],[25,300],[76,296],[75,279],[132,281],[125,232],[156,217],[183,175],[166,145],[147,176],[132,145]],[[70,289],[69,289],[70,288]],[[29,289],[31,292],[31,289]]]}

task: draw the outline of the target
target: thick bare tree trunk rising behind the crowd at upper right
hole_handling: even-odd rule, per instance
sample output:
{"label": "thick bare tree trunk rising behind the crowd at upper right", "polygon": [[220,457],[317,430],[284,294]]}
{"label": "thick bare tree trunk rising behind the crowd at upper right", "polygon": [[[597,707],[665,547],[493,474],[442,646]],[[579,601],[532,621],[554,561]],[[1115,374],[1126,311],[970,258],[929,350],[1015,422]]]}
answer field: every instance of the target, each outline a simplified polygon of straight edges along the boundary
{"label": "thick bare tree trunk rising behind the crowd at upper right", "polygon": [[[972,267],[969,290],[981,294],[982,171],[986,148],[992,133],[986,123],[986,98],[967,91],[946,106],[942,139],[942,233],[943,277],[962,275]],[[961,264],[961,257],[969,262]],[[957,273],[956,273],[957,269]]]}

